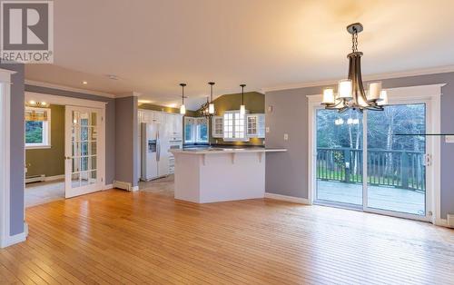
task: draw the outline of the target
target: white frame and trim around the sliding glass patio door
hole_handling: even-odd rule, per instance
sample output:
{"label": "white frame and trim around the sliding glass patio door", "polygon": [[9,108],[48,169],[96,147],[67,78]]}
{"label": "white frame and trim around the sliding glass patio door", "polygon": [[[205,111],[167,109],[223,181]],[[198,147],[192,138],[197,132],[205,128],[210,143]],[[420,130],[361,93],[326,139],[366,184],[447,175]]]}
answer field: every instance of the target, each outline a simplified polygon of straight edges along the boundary
{"label": "white frame and trim around the sliding glass patio door", "polygon": [[[426,109],[426,122],[428,130],[431,133],[440,133],[441,115],[440,115],[440,97],[441,88],[446,84],[430,84],[430,85],[418,85],[410,87],[398,87],[386,89],[388,92],[390,104],[396,103],[429,103]],[[317,133],[316,133],[316,110],[322,109],[321,106],[321,94],[308,95],[308,200],[312,204],[315,197],[316,191],[316,145],[317,145]],[[367,112],[365,112],[364,120],[367,120]],[[363,132],[363,136],[367,137],[367,133]],[[367,139],[367,138],[366,138]],[[426,169],[426,216],[418,217],[417,215],[404,214],[393,211],[380,211],[377,209],[370,209],[369,207],[362,207],[362,211],[370,211],[374,213],[386,214],[400,218],[430,221],[434,224],[442,223],[440,218],[440,137],[429,136],[427,141],[429,147],[426,145],[426,152],[430,153],[431,165]],[[364,141],[367,143],[367,141]],[[364,164],[364,163],[363,163]],[[363,165],[367,168],[367,165]],[[367,171],[367,169],[366,169]],[[364,172],[367,175],[367,172]],[[367,183],[363,180],[363,184]],[[367,186],[366,186],[367,187]],[[430,189],[428,192],[427,190]],[[365,188],[363,187],[363,201],[367,199],[367,195],[364,195]],[[366,203],[367,205],[367,203]],[[431,217],[429,211],[432,212]]]}

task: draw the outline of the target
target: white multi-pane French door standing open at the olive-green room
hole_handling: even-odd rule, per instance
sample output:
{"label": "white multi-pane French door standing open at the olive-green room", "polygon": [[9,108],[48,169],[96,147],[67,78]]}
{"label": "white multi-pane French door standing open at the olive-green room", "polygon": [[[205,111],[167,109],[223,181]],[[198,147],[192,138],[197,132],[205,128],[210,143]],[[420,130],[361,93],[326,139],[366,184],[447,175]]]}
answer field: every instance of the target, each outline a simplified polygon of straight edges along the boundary
{"label": "white multi-pane French door standing open at the olive-green room", "polygon": [[65,198],[103,189],[101,110],[65,108]]}

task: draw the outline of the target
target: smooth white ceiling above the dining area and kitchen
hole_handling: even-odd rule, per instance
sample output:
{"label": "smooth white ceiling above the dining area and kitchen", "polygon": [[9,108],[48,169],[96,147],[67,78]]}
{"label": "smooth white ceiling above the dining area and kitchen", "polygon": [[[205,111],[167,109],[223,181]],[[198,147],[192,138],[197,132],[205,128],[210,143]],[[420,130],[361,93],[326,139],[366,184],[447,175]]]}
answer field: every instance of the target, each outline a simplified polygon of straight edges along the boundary
{"label": "smooth white ceiling above the dining area and kitchen", "polygon": [[221,95],[344,77],[354,22],[363,74],[454,64],[452,11],[452,0],[55,0],[54,64],[25,76],[166,105],[184,82],[196,109],[209,81]]}

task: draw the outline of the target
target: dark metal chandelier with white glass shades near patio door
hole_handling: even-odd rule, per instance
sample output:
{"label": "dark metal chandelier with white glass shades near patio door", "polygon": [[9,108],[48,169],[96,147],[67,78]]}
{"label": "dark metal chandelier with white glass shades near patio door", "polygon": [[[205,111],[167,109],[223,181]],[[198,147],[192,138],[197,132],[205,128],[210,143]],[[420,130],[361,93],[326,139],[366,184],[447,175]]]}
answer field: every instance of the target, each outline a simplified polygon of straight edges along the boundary
{"label": "dark metal chandelier with white glass shades near patio door", "polygon": [[349,59],[349,77],[341,80],[338,84],[338,93],[334,93],[333,88],[323,90],[322,105],[325,109],[338,110],[343,113],[349,109],[357,110],[362,113],[364,110],[383,111],[383,105],[388,103],[386,90],[381,89],[381,83],[369,84],[369,91],[364,91],[361,77],[361,56],[358,51],[358,34],[363,27],[360,23],[347,26],[347,31],[351,34],[351,50],[347,55]]}

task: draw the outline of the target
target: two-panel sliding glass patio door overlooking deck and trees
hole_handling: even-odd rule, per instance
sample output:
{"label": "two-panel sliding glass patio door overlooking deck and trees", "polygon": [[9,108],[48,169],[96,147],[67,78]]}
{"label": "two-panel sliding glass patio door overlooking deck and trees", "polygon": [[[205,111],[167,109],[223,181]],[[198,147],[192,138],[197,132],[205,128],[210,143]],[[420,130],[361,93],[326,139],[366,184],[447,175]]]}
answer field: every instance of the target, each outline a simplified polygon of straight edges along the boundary
{"label": "two-panel sliding glass patio door overlooking deck and trees", "polygon": [[316,111],[316,203],[429,220],[429,102]]}

